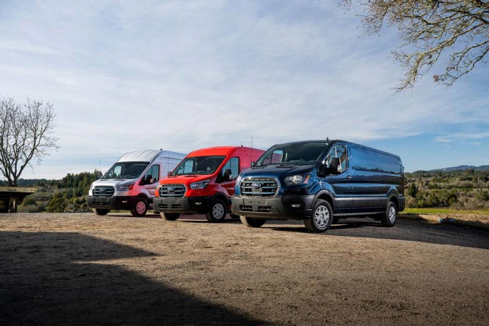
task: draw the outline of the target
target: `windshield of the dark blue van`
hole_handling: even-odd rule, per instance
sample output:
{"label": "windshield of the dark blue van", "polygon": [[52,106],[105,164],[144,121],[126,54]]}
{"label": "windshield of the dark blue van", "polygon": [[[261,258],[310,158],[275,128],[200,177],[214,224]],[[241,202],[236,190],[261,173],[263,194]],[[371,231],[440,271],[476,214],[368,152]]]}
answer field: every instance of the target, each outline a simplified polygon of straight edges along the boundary
{"label": "windshield of the dark blue van", "polygon": [[314,164],[325,154],[328,145],[326,142],[275,145],[258,159],[255,167]]}

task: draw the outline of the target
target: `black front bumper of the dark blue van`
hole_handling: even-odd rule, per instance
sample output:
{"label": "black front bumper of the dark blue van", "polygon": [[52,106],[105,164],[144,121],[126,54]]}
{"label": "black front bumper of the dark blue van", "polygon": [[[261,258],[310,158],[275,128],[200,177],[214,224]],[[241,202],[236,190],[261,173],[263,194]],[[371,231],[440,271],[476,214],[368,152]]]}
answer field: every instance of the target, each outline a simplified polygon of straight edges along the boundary
{"label": "black front bumper of the dark blue van", "polygon": [[314,195],[283,195],[270,198],[234,195],[231,198],[231,211],[248,218],[304,220],[311,216],[313,201]]}

